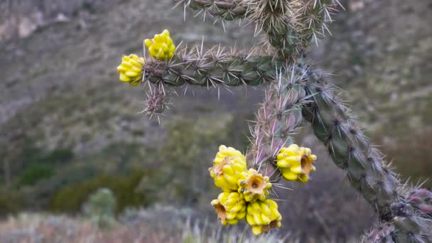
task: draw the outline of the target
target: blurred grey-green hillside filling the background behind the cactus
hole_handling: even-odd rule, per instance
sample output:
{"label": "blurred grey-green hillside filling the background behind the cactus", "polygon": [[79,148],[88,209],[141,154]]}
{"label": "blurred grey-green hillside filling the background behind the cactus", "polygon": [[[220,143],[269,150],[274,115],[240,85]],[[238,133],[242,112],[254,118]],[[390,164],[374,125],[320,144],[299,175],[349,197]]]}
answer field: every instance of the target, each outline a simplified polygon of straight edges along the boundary
{"label": "blurred grey-green hillside filling the background behind the cactus", "polygon": [[[344,4],[333,36],[311,57],[335,74],[367,134],[399,172],[414,183],[431,177],[432,4]],[[164,28],[175,43],[200,43],[204,36],[206,47],[239,48],[253,45],[253,29],[229,23],[224,31],[190,11],[183,21],[183,9],[172,7],[171,0],[0,3],[0,215],[77,213],[102,186],[121,198],[119,211],[154,203],[211,210],[212,156],[219,144],[245,151],[244,120],[253,118],[261,92],[239,87],[221,90],[218,99],[217,90],[188,90],[171,99],[175,106],[158,124],[139,113],[144,92],[121,84],[115,67],[122,54],[141,53],[141,41]],[[311,183],[279,192],[290,212],[283,214],[289,216],[282,234],[311,241],[362,234],[372,210],[310,133],[297,140],[313,146],[320,161]]]}

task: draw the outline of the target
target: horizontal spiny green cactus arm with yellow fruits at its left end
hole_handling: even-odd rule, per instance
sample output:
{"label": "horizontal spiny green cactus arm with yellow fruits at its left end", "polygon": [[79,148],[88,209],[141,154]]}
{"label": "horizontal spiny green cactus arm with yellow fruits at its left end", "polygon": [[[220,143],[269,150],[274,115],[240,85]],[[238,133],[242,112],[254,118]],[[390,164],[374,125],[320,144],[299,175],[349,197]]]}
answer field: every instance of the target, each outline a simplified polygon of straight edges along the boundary
{"label": "horizontal spiny green cactus arm with yellow fruits at its left end", "polygon": [[171,87],[257,86],[273,80],[279,62],[270,56],[179,53],[168,61],[146,60],[144,81]]}

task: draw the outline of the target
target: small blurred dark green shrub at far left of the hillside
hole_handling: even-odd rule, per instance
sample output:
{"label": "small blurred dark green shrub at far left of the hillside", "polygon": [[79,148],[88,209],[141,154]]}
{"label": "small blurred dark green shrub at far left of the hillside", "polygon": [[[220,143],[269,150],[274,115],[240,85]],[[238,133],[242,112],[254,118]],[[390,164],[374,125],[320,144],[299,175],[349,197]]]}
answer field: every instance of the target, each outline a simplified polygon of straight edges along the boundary
{"label": "small blurred dark green shrub at far left of the hillside", "polygon": [[19,185],[34,185],[39,180],[50,178],[54,173],[54,168],[48,164],[32,163],[23,171]]}

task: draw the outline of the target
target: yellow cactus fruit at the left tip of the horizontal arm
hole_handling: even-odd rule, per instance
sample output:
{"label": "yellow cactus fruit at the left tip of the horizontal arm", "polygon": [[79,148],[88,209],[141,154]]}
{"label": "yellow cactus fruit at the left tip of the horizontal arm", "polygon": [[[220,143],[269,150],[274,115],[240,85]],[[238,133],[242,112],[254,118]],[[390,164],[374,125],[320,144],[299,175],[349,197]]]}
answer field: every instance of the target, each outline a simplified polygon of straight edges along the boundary
{"label": "yellow cactus fruit at the left tip of the horizontal arm", "polygon": [[117,67],[117,71],[120,72],[120,81],[129,82],[131,85],[139,85],[143,78],[143,65],[144,58],[140,58],[138,55],[123,55],[121,63]]}

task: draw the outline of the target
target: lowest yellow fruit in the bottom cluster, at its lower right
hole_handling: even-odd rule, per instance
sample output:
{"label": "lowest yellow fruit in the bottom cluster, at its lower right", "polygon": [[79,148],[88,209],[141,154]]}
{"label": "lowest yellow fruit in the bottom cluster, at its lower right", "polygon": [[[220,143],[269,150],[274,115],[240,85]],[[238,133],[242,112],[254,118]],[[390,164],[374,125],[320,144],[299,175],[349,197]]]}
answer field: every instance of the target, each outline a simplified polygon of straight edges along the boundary
{"label": "lowest yellow fruit in the bottom cluster, at its lower right", "polygon": [[246,222],[252,226],[252,233],[255,235],[268,233],[271,228],[281,227],[281,220],[282,215],[274,200],[257,200],[247,205]]}

